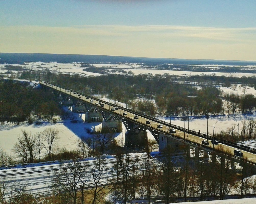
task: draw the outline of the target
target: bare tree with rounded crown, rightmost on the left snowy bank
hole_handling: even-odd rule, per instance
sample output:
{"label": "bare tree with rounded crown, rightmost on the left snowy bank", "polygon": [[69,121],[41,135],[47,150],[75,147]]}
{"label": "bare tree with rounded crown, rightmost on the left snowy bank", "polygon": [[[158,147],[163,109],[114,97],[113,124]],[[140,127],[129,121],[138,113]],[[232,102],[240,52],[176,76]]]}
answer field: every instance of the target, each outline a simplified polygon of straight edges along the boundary
{"label": "bare tree with rounded crown, rightmost on the left snowy bank", "polygon": [[49,160],[51,160],[52,148],[56,146],[57,140],[60,139],[60,137],[58,136],[59,130],[49,127],[49,128],[46,128],[42,132],[42,134],[46,142],[46,144],[44,145],[44,148],[48,153]]}

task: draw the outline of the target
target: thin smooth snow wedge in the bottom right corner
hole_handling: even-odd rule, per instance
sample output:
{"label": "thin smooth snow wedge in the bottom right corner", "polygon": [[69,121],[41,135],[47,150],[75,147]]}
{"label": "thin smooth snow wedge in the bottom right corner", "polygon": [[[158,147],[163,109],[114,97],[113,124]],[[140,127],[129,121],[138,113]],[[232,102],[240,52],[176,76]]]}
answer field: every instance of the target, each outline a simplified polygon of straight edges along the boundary
{"label": "thin smooth snow wedge in the bottom right corner", "polygon": [[[189,204],[255,204],[256,198],[239,198],[239,199],[228,199],[228,200],[210,200],[210,201],[200,201],[200,202],[189,202]],[[176,204],[187,204],[187,202],[176,202]]]}

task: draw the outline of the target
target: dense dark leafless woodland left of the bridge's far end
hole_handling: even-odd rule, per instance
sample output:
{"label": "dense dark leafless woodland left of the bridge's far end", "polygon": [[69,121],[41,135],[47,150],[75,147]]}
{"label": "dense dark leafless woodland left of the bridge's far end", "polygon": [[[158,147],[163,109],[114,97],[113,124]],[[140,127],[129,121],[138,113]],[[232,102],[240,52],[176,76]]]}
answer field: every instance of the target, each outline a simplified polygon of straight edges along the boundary
{"label": "dense dark leafless woodland left of the bridge's far end", "polygon": [[27,82],[2,79],[0,90],[0,125],[33,122],[32,113],[48,121],[60,114],[57,96],[44,89],[32,89]]}

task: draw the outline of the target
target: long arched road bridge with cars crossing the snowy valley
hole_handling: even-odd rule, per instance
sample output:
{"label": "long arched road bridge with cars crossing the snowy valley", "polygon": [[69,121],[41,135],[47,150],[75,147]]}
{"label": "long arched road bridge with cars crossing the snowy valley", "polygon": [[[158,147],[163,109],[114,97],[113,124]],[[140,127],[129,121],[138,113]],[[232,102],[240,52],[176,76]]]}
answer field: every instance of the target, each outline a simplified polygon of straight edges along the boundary
{"label": "long arched road bridge with cars crossing the snowy valley", "polygon": [[[238,146],[238,143],[229,142],[221,138],[216,138],[219,140],[219,145],[214,145],[211,143],[209,143],[209,145],[204,145],[201,143],[202,140],[212,140],[213,137],[207,136],[206,134],[198,133],[193,130],[184,129],[182,127],[167,123],[157,118],[153,118],[151,116],[147,116],[142,113],[126,109],[122,106],[118,106],[89,95],[78,93],[77,91],[60,87],[49,82],[39,81],[39,83],[43,87],[48,87],[60,93],[67,94],[68,96],[78,101],[82,101],[84,103],[87,103],[88,105],[94,106],[95,109],[101,111],[103,116],[105,116],[104,118],[106,118],[106,115],[119,116],[122,119],[123,123],[126,125],[127,130],[131,130],[132,127],[135,125],[148,129],[158,142],[160,150],[163,150],[167,146],[177,147],[185,145],[185,148],[188,151],[188,155],[190,155],[190,147],[195,148],[196,158],[199,158],[199,151],[204,151],[206,154],[211,154],[212,161],[215,161],[217,155],[219,157],[223,157],[232,161],[232,163],[243,163],[247,166],[252,167],[253,169],[256,169],[256,151],[251,150],[250,148],[247,148],[245,146]],[[104,104],[104,106],[102,106],[101,104]],[[170,128],[174,128],[176,130],[176,133],[170,133]],[[238,148],[242,150],[243,157],[233,155],[233,151]]]}

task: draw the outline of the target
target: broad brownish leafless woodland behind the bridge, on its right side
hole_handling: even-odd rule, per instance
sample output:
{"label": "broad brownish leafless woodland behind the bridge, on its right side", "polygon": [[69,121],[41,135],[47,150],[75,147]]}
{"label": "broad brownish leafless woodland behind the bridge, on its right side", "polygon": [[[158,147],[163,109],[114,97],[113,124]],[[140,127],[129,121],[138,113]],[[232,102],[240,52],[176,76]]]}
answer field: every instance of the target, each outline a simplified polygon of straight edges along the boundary
{"label": "broad brownish leafless woodland behind the bridge, on its right side", "polygon": [[[256,77],[236,78],[203,75],[181,78],[168,74],[163,76],[153,74],[138,76],[109,74],[97,77],[82,77],[79,75],[57,75],[50,71],[23,71],[20,77],[24,79],[44,79],[85,94],[107,95],[108,98],[129,104],[133,110],[151,116],[156,114],[168,116],[209,115],[224,114],[224,112],[234,114],[236,111],[246,113],[256,106],[253,95],[245,94],[245,97],[233,97],[231,95],[232,97],[228,97],[218,88],[210,86],[217,83],[219,85],[223,84],[220,81],[225,83],[223,85],[228,85],[227,87],[233,83],[233,86],[243,88],[244,93],[246,93],[248,83],[252,87],[256,85]],[[195,81],[202,88],[198,89],[188,83],[177,82],[184,79],[190,82]],[[242,87],[238,87],[235,82],[240,82],[239,80],[243,81]],[[137,97],[143,100],[137,100]],[[223,103],[222,99],[224,98],[232,103],[232,110],[230,109],[230,103]],[[155,108],[154,101],[158,109]]]}

